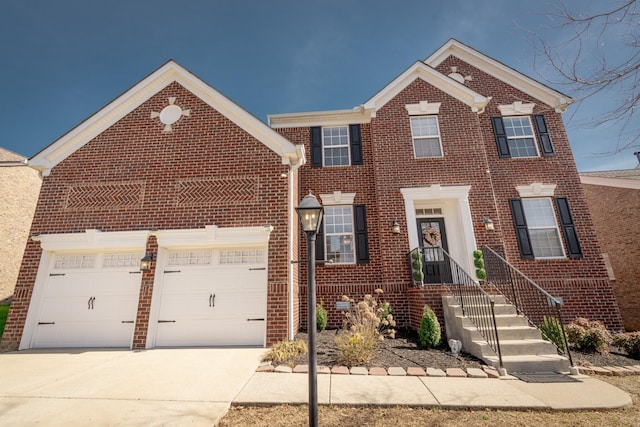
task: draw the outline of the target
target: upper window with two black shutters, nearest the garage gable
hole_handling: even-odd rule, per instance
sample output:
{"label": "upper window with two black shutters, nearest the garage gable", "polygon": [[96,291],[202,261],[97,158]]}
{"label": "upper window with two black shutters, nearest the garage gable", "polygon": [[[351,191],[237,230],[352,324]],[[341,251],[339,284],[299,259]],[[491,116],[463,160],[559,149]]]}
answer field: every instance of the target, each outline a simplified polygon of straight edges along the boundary
{"label": "upper window with two black shutters, nearest the garage gable", "polygon": [[361,165],[360,125],[311,129],[311,167]]}

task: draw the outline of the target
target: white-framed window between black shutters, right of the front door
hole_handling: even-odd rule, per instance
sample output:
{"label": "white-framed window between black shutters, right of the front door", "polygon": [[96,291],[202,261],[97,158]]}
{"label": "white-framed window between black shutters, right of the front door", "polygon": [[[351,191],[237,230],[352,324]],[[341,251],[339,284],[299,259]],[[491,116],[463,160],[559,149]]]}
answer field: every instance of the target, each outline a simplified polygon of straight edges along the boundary
{"label": "white-framed window between black shutters, right of the front door", "polygon": [[549,198],[522,199],[535,258],[564,258],[560,231]]}

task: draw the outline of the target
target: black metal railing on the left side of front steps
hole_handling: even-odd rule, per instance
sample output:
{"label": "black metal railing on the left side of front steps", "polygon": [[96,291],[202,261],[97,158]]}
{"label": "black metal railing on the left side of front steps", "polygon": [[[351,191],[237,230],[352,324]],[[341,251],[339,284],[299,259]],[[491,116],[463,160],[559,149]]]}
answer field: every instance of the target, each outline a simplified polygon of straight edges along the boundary
{"label": "black metal railing on the left side of front steps", "polygon": [[[419,255],[419,256],[418,256]],[[424,281],[416,280],[420,275],[416,274],[422,265],[422,276],[427,265],[436,265],[438,268],[438,281],[444,285],[460,305],[464,316],[469,318],[478,332],[487,341],[491,349],[498,356],[500,368],[502,365],[502,351],[498,337],[498,326],[495,315],[495,301],[491,295],[476,282],[467,272],[440,247],[420,247],[413,249],[408,255],[411,266],[414,286],[423,285]],[[421,263],[417,263],[417,260]]]}

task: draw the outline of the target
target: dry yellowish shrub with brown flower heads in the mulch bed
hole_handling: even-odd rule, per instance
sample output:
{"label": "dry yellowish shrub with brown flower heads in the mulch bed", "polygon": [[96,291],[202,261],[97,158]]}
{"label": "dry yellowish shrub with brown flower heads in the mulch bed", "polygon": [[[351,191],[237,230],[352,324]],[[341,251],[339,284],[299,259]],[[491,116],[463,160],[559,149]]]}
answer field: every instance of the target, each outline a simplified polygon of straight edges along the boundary
{"label": "dry yellowish shrub with brown flower heads in the mulch bed", "polygon": [[351,308],[344,312],[342,330],[335,338],[338,363],[347,366],[369,363],[378,343],[385,336],[395,337],[393,310],[388,303],[378,302],[382,293],[382,289],[376,289],[375,296],[365,295],[358,303],[346,295],[342,297],[342,301],[351,303]]}

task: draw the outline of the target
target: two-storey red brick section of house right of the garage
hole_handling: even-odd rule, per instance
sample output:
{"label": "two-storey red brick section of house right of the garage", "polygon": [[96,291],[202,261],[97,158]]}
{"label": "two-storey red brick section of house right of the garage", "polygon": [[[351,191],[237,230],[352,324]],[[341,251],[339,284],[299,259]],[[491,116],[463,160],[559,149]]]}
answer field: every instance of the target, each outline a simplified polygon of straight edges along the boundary
{"label": "two-storey red brick section of house right of the garage", "polygon": [[407,262],[435,229],[467,272],[473,250],[490,245],[561,297],[568,319],[620,329],[562,122],[570,102],[450,40],[356,108],[269,116],[310,154],[299,197],[312,191],[325,206],[316,281],[330,324],[341,295],[378,287],[400,324],[417,328],[425,303],[442,316],[438,255],[425,259],[423,287],[411,286]]}

